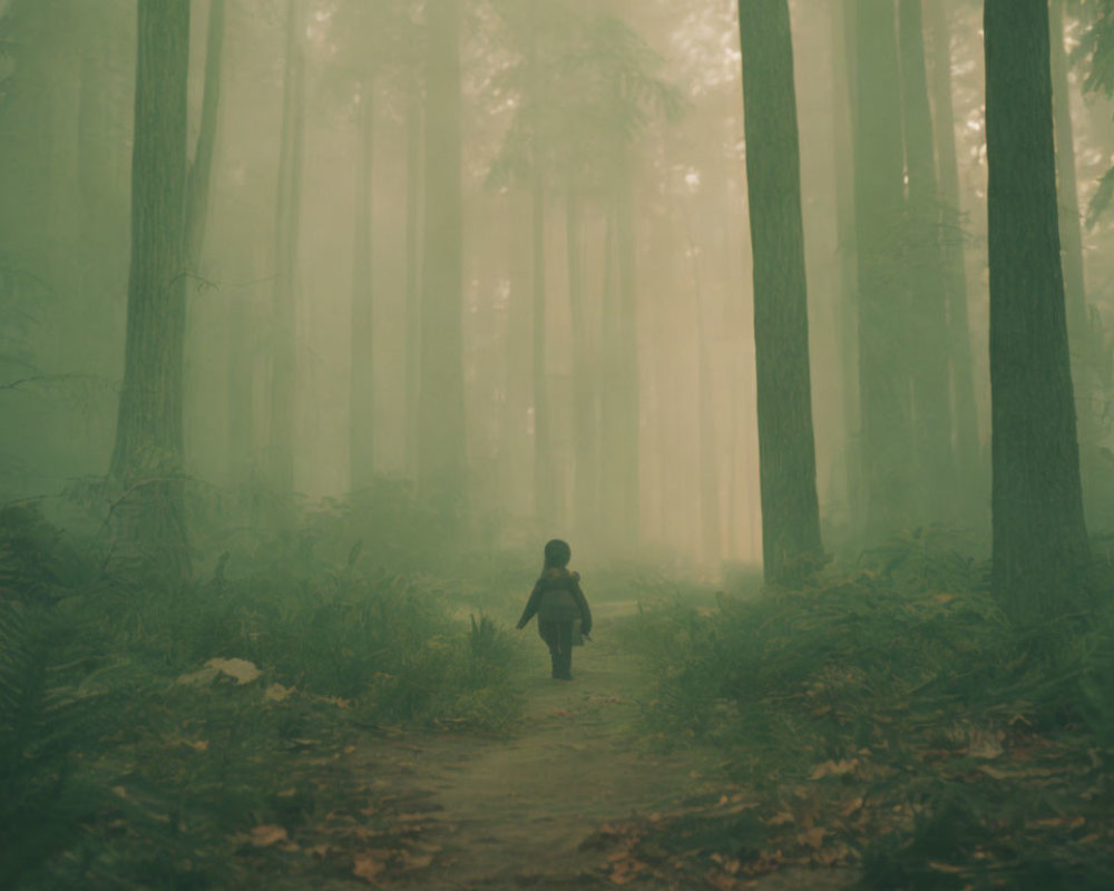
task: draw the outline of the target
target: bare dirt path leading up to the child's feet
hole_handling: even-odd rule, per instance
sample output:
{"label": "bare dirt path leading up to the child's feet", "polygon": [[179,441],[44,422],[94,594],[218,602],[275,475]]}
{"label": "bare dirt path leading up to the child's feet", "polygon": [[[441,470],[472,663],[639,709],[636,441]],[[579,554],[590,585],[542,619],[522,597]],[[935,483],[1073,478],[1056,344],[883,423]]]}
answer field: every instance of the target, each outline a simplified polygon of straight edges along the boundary
{"label": "bare dirt path leading up to the child's feet", "polygon": [[[532,629],[527,630],[528,634]],[[537,674],[525,681],[524,730],[510,740],[412,740],[390,777],[405,794],[436,852],[394,888],[615,888],[600,826],[707,800],[725,785],[714,752],[653,754],[636,737],[635,696],[645,672],[606,639],[576,650],[571,683],[551,681],[538,642]],[[837,888],[831,875],[782,873],[749,887]],[[846,877],[842,877],[846,882]],[[638,877],[631,887],[665,884]],[[747,885],[744,885],[747,887]]]}

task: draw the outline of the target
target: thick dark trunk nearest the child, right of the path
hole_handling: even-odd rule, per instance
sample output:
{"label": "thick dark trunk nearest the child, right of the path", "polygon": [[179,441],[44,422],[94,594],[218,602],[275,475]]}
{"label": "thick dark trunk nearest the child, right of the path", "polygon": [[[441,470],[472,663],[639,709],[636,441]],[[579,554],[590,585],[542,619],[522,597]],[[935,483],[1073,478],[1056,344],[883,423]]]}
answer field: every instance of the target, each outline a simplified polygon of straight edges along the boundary
{"label": "thick dark trunk nearest the child, right of the path", "polygon": [[762,558],[766,580],[786,584],[823,556],[788,0],[740,0],[739,28],[754,262]]}

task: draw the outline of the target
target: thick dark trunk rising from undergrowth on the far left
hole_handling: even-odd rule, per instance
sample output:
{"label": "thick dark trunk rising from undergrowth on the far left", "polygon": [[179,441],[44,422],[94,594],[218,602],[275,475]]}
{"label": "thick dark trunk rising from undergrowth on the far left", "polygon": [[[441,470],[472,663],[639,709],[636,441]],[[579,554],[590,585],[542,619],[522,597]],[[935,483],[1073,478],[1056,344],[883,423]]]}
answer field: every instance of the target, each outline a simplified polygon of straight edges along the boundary
{"label": "thick dark trunk rising from undergrowth on the far left", "polygon": [[139,0],[131,267],[111,476],[125,536],[172,578],[189,570],[182,480],[189,0]]}

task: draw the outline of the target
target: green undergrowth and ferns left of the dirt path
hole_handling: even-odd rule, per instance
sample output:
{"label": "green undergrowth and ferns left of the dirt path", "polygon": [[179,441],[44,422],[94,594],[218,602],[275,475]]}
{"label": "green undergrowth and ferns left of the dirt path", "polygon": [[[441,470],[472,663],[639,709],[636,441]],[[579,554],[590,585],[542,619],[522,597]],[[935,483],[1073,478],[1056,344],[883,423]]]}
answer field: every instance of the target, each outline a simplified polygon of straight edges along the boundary
{"label": "green undergrowth and ferns left of the dirt path", "polygon": [[[253,828],[291,845],[345,809],[380,819],[353,796],[387,813],[353,766],[369,746],[512,725],[505,623],[354,562],[155,590],[0,512],[0,887],[275,887],[252,858],[282,845]],[[324,863],[299,858],[280,872]]]}

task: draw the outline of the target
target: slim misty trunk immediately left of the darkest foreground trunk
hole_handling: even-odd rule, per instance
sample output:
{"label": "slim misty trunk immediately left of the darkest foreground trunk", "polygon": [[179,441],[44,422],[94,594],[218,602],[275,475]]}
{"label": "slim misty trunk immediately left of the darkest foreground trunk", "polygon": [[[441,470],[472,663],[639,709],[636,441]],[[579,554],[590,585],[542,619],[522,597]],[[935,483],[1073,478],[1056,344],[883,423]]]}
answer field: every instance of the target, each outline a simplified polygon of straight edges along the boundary
{"label": "slim misty trunk immediately left of the darkest foreground trunk", "polygon": [[951,400],[955,405],[956,457],[967,509],[978,516],[985,508],[986,474],[978,435],[975,375],[971,371],[970,322],[967,314],[967,272],[964,260],[962,215],[959,204],[959,161],[956,157],[955,111],[951,102],[951,33],[949,0],[928,4],[932,33],[932,102],[936,110],[936,154],[940,176],[940,231],[942,233],[948,326],[951,333]]}

